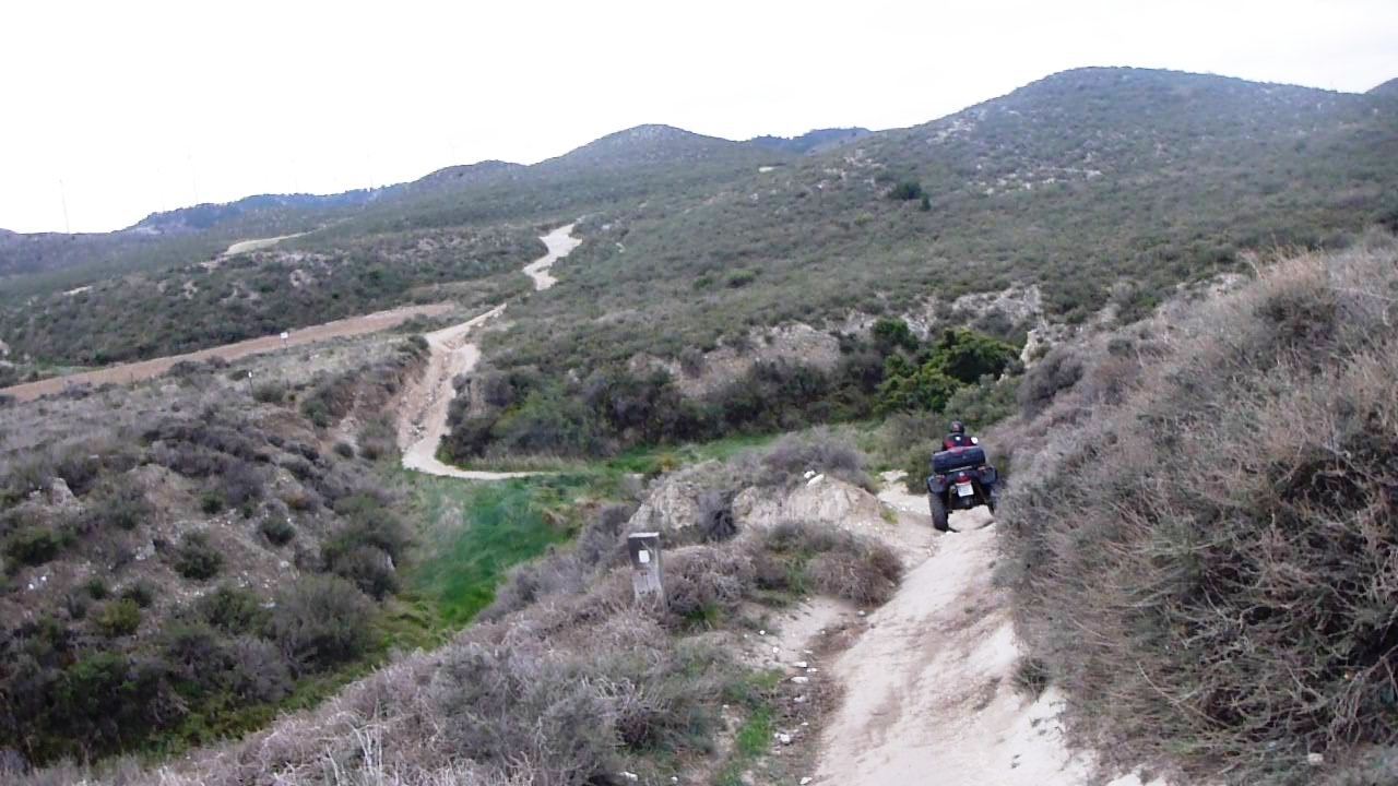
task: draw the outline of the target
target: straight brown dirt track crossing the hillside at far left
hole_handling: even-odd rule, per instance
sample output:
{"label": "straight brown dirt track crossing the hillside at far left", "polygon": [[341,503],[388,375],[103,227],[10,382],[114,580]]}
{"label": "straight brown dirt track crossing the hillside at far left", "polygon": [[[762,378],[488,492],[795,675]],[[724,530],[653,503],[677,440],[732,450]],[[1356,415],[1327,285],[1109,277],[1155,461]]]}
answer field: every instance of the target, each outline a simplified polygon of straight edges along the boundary
{"label": "straight brown dirt track crossing the hillside at far left", "polygon": [[301,327],[298,330],[292,330],[287,341],[282,341],[278,336],[263,336],[260,338],[249,338],[246,341],[238,341],[235,344],[224,344],[222,347],[199,350],[197,352],[186,352],[183,355],[169,355],[165,358],[154,358],[150,361],[138,361],[134,364],[116,365],[98,371],[73,373],[69,376],[55,376],[50,379],[41,379],[39,382],[27,382],[24,385],[15,385],[13,387],[0,389],[0,394],[14,396],[20,401],[29,401],[38,399],[39,396],[60,393],[63,392],[64,387],[70,385],[85,385],[85,383],[103,385],[108,382],[115,382],[115,383],[138,382],[143,379],[151,379],[152,376],[159,376],[166,371],[169,371],[172,365],[180,361],[204,361],[212,357],[219,357],[224,358],[225,361],[235,361],[238,358],[243,358],[247,355],[274,352],[277,350],[281,350],[282,347],[299,347],[302,344],[312,344],[316,341],[324,341],[327,338],[338,338],[341,336],[361,336],[363,333],[376,333],[379,330],[396,327],[414,316],[438,316],[452,310],[452,308],[453,303],[431,303],[422,306],[403,306],[375,313],[366,313],[361,316],[351,316],[348,319],[338,319],[336,322],[327,322],[324,324],[315,324],[310,327]]}

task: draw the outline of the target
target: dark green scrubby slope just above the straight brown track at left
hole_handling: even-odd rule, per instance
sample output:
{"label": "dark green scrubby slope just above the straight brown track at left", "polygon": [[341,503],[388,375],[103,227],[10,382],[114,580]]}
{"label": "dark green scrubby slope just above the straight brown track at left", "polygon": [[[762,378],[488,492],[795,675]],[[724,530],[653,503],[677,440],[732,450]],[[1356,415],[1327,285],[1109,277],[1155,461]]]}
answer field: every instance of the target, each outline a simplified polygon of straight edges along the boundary
{"label": "dark green scrubby slope just above the straight brown track at left", "polygon": [[404,302],[495,302],[542,253],[527,228],[419,231],[219,256],[0,308],[15,359],[106,365],[274,336]]}

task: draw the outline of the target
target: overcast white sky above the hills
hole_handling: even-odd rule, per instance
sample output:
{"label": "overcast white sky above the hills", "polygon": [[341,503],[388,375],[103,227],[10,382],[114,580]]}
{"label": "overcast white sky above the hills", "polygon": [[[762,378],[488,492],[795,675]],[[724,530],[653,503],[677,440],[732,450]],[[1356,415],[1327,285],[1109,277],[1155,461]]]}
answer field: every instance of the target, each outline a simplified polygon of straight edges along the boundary
{"label": "overcast white sky above the hills", "polygon": [[1395,0],[7,0],[0,31],[0,227],[25,232],[528,164],[639,123],[910,126],[1078,66],[1398,77]]}

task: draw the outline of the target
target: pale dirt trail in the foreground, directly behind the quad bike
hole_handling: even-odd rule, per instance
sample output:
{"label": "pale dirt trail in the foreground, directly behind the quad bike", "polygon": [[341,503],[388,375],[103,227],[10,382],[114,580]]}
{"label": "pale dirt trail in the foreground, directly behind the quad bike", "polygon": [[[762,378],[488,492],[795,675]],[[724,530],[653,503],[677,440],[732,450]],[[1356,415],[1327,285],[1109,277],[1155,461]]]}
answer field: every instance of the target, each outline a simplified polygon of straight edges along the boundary
{"label": "pale dirt trail in the foreground, directly behind the quad bike", "polygon": [[[900,484],[879,498],[930,526],[925,499]],[[1014,688],[1019,645],[1008,599],[991,585],[990,515],[952,513],[951,524],[960,531],[938,538],[836,660],[846,698],[822,736],[815,782],[1085,786],[1092,762],[1065,748],[1058,696],[1029,701]],[[1113,786],[1139,783],[1128,775]]]}

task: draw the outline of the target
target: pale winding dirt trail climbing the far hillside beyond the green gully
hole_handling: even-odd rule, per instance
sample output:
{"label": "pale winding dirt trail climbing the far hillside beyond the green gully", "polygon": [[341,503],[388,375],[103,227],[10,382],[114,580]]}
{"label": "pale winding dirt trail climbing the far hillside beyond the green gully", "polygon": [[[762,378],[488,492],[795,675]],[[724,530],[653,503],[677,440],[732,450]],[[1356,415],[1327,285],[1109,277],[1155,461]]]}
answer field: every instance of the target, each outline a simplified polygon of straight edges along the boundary
{"label": "pale winding dirt trail climbing the far hillside beyond the green gully", "polygon": [[[548,290],[558,283],[548,270],[582,243],[572,236],[573,224],[566,224],[540,238],[548,253],[524,266],[524,274],[534,280],[534,290]],[[461,470],[438,460],[438,443],[447,432],[447,410],[456,396],[452,380],[470,373],[481,359],[481,350],[467,341],[470,333],[505,312],[500,303],[493,309],[463,322],[426,334],[432,355],[426,372],[404,393],[403,413],[398,418],[398,445],[403,446],[403,467],[419,473],[463,480],[507,480],[533,473],[488,473]]]}

